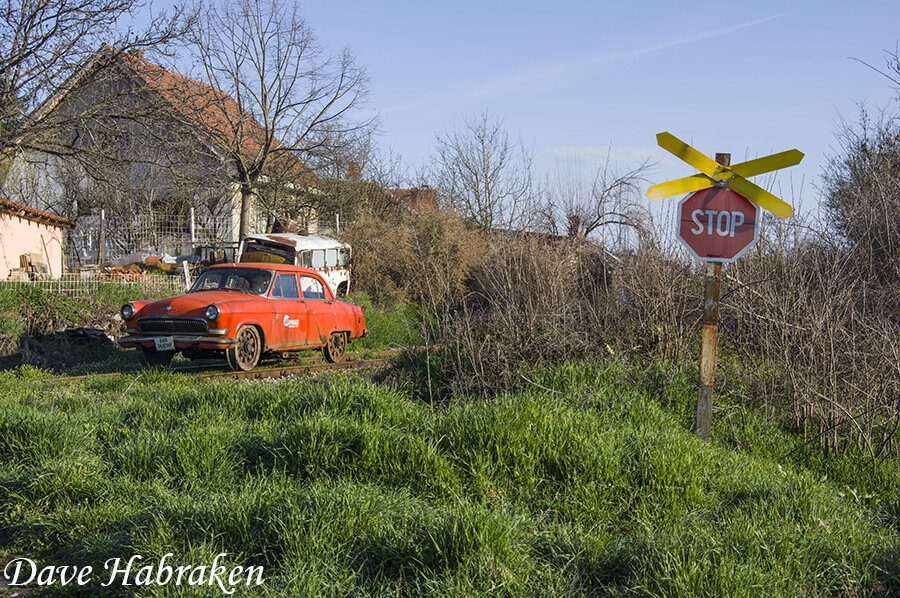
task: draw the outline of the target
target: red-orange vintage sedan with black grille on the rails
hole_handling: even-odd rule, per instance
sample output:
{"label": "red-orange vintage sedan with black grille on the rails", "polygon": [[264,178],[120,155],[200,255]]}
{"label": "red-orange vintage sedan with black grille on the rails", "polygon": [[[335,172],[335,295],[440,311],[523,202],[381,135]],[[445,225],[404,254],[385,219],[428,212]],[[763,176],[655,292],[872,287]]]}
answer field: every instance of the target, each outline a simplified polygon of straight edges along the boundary
{"label": "red-orange vintage sedan with black grille on the rails", "polygon": [[221,357],[234,370],[253,369],[264,354],[322,348],[339,361],[350,339],[366,336],[362,309],[335,301],[319,273],[280,264],[220,264],[187,294],[122,306],[123,347],[146,365]]}

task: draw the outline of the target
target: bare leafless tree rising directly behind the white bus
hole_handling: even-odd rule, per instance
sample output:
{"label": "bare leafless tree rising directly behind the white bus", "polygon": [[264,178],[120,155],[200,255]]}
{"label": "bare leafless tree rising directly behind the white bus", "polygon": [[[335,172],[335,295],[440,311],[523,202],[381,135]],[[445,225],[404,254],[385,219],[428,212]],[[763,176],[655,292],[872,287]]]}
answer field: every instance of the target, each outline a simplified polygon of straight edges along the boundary
{"label": "bare leafless tree rising directly behind the white bus", "polygon": [[303,187],[311,173],[299,158],[332,151],[367,130],[371,120],[351,119],[367,91],[365,73],[347,51],[328,56],[292,1],[210,6],[192,29],[191,43],[200,78],[236,103],[210,98],[218,115],[206,128],[228,148],[244,237],[262,183]]}

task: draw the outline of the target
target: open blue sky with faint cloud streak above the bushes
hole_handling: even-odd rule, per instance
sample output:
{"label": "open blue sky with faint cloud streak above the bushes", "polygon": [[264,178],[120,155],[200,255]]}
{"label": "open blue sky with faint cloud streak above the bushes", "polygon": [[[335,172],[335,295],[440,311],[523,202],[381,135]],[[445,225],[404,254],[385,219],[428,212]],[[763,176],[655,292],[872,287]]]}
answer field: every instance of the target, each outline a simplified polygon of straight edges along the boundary
{"label": "open blue sky with faint cloud streak above the bushes", "polygon": [[898,1],[302,6],[323,44],[366,65],[380,143],[412,171],[435,134],[488,110],[533,146],[544,171],[560,156],[591,164],[611,148],[623,165],[659,161],[653,182],[692,174],[655,147],[664,130],[734,162],[796,147],[804,162],[774,188],[796,199],[804,181],[810,210],[841,119],[896,95],[851,58],[884,65],[900,39]]}

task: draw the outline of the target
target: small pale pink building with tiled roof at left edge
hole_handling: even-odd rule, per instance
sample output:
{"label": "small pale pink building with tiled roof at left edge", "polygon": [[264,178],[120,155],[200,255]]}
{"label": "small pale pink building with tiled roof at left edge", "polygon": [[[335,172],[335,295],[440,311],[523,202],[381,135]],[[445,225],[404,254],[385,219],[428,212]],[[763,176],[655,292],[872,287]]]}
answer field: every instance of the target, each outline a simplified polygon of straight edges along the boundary
{"label": "small pale pink building with tiled roof at left edge", "polygon": [[64,267],[64,231],[77,224],[43,210],[0,198],[0,280],[27,278],[28,268],[59,278]]}

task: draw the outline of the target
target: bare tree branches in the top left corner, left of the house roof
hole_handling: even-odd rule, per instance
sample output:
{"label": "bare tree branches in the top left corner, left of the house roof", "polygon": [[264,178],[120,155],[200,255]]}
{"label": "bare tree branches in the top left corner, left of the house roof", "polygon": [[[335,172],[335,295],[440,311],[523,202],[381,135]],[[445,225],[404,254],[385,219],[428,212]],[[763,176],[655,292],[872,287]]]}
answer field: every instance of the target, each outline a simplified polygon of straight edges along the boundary
{"label": "bare tree branches in the top left corner, left of the house roof", "polygon": [[[6,0],[0,3],[0,152],[73,155],[73,131],[83,113],[60,113],[44,105],[71,84],[71,77],[96,55],[101,43],[128,50],[158,49],[182,35],[192,17],[177,7],[151,16],[143,31],[119,23],[138,15],[138,0]],[[88,118],[90,118],[88,116]]]}

